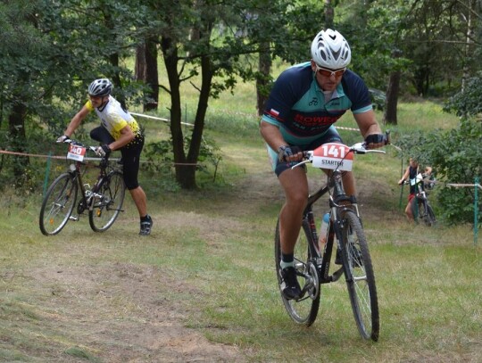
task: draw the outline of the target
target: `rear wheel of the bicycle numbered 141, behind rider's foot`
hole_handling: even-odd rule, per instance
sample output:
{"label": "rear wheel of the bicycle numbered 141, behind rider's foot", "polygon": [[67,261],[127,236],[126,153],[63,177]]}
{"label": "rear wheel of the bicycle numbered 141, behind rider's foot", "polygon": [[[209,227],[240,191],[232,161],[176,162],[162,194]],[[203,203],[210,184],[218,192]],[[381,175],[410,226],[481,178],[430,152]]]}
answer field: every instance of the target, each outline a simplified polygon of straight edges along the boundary
{"label": "rear wheel of the bicycle numbered 141, behind rider's foot", "polygon": [[[311,230],[308,224],[303,220],[303,227],[300,229],[300,235],[296,241],[295,245],[295,264],[296,270],[299,275],[306,274],[317,274],[316,268],[309,263],[312,258],[309,245],[310,238],[312,238]],[[276,225],[275,233],[275,266],[276,266],[276,276],[278,276],[278,285],[281,285],[282,279],[279,274],[280,272],[280,261],[281,261],[281,244],[279,240],[279,219]],[[302,283],[303,277],[298,277],[298,281],[303,288],[306,285],[306,278],[304,279],[304,284]],[[287,300],[283,295],[281,289],[279,289],[281,294],[281,300],[287,309],[287,313],[296,323],[304,326],[311,326],[318,315],[318,309],[320,307],[320,284],[318,282],[318,276],[316,276],[316,284],[304,294],[301,299],[298,300]]]}

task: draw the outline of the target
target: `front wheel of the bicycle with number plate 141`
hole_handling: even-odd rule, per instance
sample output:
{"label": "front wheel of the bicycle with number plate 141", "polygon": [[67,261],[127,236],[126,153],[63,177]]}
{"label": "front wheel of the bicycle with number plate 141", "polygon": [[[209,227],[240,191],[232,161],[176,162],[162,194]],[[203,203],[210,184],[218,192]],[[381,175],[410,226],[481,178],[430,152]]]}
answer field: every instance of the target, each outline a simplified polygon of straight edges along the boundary
{"label": "front wheel of the bicycle with number plate 141", "polygon": [[377,342],[378,298],[368,243],[362,223],[353,210],[345,210],[342,220],[340,243],[353,316],[362,337]]}

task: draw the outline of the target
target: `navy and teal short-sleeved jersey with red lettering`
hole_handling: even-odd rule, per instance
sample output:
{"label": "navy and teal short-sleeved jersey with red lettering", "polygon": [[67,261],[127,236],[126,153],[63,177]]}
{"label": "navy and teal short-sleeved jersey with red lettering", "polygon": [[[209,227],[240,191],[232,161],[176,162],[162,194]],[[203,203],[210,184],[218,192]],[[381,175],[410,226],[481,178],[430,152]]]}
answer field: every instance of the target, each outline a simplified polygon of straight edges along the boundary
{"label": "navy and teal short-sleeved jersey with red lettering", "polygon": [[353,71],[346,70],[329,95],[315,76],[311,62],[288,68],[279,75],[265,104],[262,121],[276,125],[288,144],[312,143],[347,110],[356,114],[372,109],[368,87]]}

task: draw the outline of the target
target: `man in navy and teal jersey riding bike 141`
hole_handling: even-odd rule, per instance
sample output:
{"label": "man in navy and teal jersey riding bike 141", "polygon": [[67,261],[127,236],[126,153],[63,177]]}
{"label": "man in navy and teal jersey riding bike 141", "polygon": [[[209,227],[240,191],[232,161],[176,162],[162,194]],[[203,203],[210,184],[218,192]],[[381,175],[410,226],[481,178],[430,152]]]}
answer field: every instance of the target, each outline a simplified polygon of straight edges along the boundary
{"label": "man in navy and teal jersey riding bike 141", "polygon": [[[303,151],[321,144],[342,143],[332,126],[347,110],[368,145],[385,145],[375,119],[370,94],[362,78],[346,67],[350,46],[337,30],[326,29],[312,41],[312,60],[283,71],[267,100],[260,131],[268,146],[272,169],[278,176],[286,202],[279,214],[281,243],[281,289],[287,299],[296,299],[301,288],[295,275],[294,251],[303,210],[308,197],[308,180],[303,168],[290,169],[303,158]],[[325,170],[328,173],[328,170]],[[345,192],[355,194],[351,172],[344,177]]]}

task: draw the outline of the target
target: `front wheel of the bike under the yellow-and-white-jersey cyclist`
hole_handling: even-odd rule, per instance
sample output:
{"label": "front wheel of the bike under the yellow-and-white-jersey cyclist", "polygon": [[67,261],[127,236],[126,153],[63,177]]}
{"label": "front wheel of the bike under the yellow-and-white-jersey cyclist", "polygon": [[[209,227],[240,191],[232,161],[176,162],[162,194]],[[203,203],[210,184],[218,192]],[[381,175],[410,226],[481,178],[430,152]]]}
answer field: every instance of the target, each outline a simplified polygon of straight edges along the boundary
{"label": "front wheel of the bike under the yellow-and-white-jersey cyclist", "polygon": [[46,191],[38,225],[43,235],[57,235],[65,227],[77,201],[79,185],[70,173],[58,176]]}

